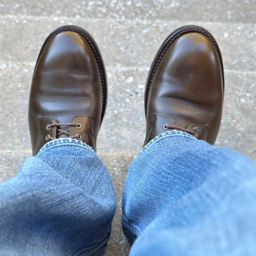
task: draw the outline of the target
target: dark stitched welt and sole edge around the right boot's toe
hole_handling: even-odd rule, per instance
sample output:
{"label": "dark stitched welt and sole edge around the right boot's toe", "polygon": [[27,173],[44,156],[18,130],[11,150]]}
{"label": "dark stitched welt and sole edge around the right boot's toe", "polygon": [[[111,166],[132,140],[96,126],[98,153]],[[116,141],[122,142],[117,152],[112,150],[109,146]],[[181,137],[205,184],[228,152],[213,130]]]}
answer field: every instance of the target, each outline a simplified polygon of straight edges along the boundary
{"label": "dark stitched welt and sole edge around the right boot's toe", "polygon": [[165,39],[165,41],[163,42],[163,44],[161,45],[161,47],[159,48],[156,57],[154,58],[151,67],[149,69],[149,73],[148,73],[148,77],[147,77],[147,83],[146,83],[146,88],[145,88],[145,98],[144,98],[144,102],[145,102],[145,115],[147,117],[147,103],[148,103],[148,95],[149,95],[149,91],[150,91],[150,87],[151,84],[153,82],[154,79],[154,75],[156,73],[156,70],[159,66],[160,61],[163,58],[164,53],[166,52],[166,50],[169,48],[169,46],[180,36],[187,34],[187,33],[200,33],[206,37],[208,37],[210,39],[210,41],[213,43],[213,46],[218,54],[218,58],[220,61],[220,67],[221,67],[221,74],[222,74],[222,81],[223,81],[223,90],[225,89],[224,86],[224,70],[223,70],[223,63],[222,63],[222,57],[221,57],[221,53],[220,53],[220,49],[219,46],[216,42],[216,40],[214,39],[214,37],[211,35],[211,33],[209,31],[207,31],[205,28],[199,27],[199,26],[184,26],[184,27],[180,27],[176,30],[174,30],[169,36],[167,36],[167,38]]}

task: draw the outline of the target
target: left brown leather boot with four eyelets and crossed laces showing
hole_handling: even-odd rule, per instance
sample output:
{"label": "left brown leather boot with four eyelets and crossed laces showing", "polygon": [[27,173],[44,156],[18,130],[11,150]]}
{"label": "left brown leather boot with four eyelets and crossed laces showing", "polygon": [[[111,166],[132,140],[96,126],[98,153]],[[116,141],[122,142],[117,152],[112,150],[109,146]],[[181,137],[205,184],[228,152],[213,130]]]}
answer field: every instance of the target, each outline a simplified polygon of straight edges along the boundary
{"label": "left brown leather boot with four eyelets and crossed laces showing", "polygon": [[57,138],[75,138],[96,150],[106,103],[105,67],[92,36],[75,26],[55,29],[42,46],[32,79],[33,155]]}

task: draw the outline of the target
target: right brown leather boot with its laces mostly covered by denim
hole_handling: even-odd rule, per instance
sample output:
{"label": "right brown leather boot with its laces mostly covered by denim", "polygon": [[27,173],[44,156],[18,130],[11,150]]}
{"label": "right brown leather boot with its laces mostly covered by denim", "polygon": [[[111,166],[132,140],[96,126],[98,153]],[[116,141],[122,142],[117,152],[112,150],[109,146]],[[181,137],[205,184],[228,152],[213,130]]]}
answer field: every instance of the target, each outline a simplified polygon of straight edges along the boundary
{"label": "right brown leather boot with its laces mostly covered by denim", "polygon": [[222,58],[213,36],[198,26],[175,30],[149,70],[144,145],[167,130],[185,131],[213,144],[220,128],[223,94]]}

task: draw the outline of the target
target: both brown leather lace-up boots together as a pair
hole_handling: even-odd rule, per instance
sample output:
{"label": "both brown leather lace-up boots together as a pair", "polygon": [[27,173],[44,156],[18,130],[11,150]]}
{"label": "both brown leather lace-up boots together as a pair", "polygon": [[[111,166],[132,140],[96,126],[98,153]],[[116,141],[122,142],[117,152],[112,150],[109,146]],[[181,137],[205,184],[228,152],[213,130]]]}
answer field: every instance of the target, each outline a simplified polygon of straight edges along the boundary
{"label": "both brown leather lace-up boots together as a pair", "polygon": [[[211,144],[221,123],[222,58],[206,29],[185,26],[163,42],[145,88],[145,145],[167,130],[181,130]],[[96,151],[107,105],[101,53],[82,28],[63,26],[44,42],[29,99],[33,155],[58,138],[81,140]]]}

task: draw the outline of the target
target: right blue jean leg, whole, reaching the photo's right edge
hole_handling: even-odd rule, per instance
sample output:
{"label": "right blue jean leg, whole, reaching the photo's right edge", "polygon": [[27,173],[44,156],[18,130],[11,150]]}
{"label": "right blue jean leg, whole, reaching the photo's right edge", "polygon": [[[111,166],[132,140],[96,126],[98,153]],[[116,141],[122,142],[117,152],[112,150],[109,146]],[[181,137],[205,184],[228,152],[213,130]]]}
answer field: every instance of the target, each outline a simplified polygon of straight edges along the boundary
{"label": "right blue jean leg, whole, reaching the photo's right edge", "polygon": [[255,255],[256,164],[180,132],[131,164],[123,196],[131,255]]}

